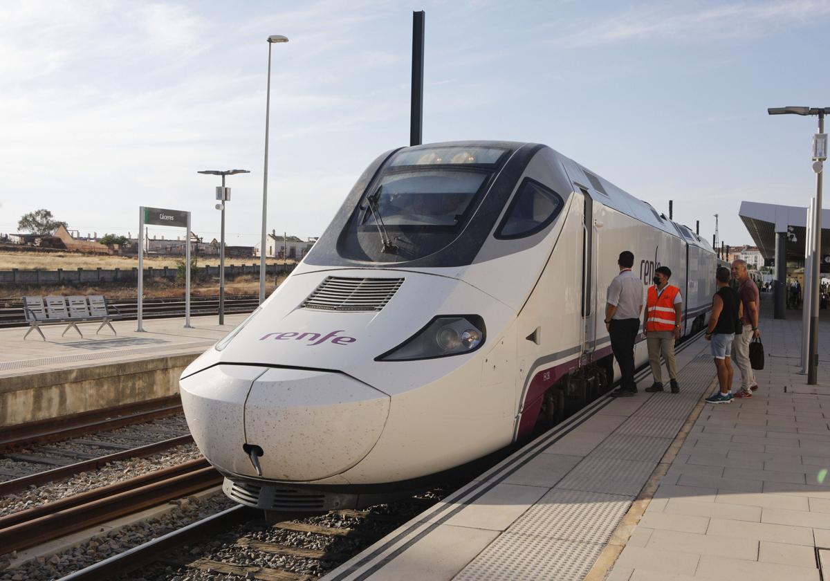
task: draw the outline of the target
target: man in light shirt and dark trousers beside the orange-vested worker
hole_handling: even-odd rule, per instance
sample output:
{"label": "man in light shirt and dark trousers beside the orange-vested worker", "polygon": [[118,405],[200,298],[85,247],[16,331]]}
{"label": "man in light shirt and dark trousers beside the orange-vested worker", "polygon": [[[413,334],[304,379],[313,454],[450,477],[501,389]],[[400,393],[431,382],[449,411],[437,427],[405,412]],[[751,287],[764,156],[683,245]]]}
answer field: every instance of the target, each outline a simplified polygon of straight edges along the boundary
{"label": "man in light shirt and dark trousers beside the orange-vested worker", "polygon": [[634,381],[634,341],[640,330],[642,312],[642,281],[631,269],[634,255],[630,251],[620,252],[617,261],[620,273],[608,286],[605,305],[605,328],[611,338],[611,350],[620,366],[620,387],[611,392],[615,397],[630,397],[637,393]]}

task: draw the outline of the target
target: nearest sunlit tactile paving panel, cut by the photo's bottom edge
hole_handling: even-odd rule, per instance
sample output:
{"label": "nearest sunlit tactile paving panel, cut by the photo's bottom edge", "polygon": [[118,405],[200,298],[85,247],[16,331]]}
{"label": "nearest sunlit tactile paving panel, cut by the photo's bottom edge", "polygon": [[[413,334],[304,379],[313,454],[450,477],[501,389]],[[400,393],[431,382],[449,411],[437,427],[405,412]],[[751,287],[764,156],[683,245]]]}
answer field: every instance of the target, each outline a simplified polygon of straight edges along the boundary
{"label": "nearest sunlit tactile paving panel, cut by the photo's bottom edge", "polygon": [[533,539],[506,532],[454,581],[579,581],[603,551],[600,543]]}

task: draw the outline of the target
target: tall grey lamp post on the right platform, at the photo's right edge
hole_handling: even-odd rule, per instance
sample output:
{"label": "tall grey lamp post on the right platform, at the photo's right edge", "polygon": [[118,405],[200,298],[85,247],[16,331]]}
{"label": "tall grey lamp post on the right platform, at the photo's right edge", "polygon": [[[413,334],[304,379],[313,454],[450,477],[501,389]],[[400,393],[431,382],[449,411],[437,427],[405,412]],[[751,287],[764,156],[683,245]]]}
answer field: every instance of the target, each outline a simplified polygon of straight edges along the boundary
{"label": "tall grey lamp post on the right platform, at the photo's right edge", "polygon": [[807,384],[818,383],[818,302],[821,291],[821,254],[822,254],[822,171],[827,159],[827,134],[824,133],[824,115],[830,114],[830,107],[774,107],[767,110],[769,115],[818,115],[818,132],[813,137],[813,171],[816,173],[816,198],[813,202],[813,264],[810,281],[810,319],[809,341],[803,345],[808,349],[805,360],[807,367]]}

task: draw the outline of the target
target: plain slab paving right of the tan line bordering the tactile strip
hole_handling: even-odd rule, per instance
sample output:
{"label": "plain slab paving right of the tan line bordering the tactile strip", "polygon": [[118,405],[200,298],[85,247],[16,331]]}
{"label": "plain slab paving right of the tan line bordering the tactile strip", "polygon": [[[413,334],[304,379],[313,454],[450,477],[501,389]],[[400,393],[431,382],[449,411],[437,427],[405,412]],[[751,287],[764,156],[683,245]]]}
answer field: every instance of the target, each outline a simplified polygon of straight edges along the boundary
{"label": "plain slab paving right of the tan line bordering the tactile strip", "polygon": [[706,405],[608,581],[830,579],[830,324],[808,386],[790,315],[762,320],[758,391]]}

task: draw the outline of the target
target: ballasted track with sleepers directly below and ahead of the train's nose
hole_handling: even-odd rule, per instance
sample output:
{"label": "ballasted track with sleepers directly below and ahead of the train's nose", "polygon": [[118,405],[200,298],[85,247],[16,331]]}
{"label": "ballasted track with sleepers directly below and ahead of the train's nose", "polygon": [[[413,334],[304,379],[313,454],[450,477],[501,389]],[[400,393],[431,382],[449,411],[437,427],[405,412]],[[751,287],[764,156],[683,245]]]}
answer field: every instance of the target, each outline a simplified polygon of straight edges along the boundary
{"label": "ballasted track with sleepers directly below and ahead of the train's nose", "polygon": [[[135,571],[133,576],[142,579],[201,579],[198,574],[222,574],[265,581],[311,581],[448,492],[432,491],[366,510],[334,510],[275,525],[267,525],[260,511],[237,505],[63,579],[110,579]],[[224,533],[218,540],[217,531]],[[208,535],[210,541],[205,540]]]}

